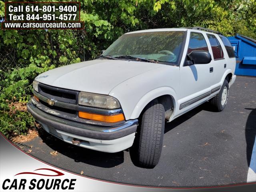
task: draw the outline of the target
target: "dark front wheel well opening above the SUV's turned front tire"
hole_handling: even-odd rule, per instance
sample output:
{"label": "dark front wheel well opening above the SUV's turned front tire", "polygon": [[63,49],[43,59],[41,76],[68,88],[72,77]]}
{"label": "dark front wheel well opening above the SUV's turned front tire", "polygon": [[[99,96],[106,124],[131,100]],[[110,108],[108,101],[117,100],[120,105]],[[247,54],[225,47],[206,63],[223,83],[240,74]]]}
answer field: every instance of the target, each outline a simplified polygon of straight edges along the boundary
{"label": "dark front wheel well opening above the SUV's turned front tire", "polygon": [[[159,96],[157,98],[154,98],[153,100],[151,100],[150,102],[156,100],[158,103],[162,104],[164,106],[164,116],[165,116],[165,120],[169,121],[169,119],[172,117],[172,115],[174,114],[174,109],[175,109],[175,100],[174,97],[171,95],[162,95]],[[148,102],[148,104],[150,103]],[[148,105],[146,104],[146,106]],[[142,112],[140,113],[140,117],[142,116],[142,114],[144,113],[146,106],[144,107],[144,109],[142,110]]]}

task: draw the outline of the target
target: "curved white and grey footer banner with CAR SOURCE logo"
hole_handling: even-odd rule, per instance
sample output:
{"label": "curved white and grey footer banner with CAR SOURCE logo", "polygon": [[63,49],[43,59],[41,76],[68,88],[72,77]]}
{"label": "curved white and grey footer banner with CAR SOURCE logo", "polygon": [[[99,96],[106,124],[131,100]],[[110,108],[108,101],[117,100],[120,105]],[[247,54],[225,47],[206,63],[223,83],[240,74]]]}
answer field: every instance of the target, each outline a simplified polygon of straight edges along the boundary
{"label": "curved white and grey footer banner with CAR SOURCE logo", "polygon": [[[140,174],[140,173],[138,173]],[[107,178],[106,178],[107,179]],[[0,134],[0,191],[73,191],[73,192],[122,192],[122,191],[254,191],[253,184],[213,186],[200,188],[163,188],[134,186],[88,178],[42,162],[20,150]],[[218,188],[218,189],[216,189]]]}

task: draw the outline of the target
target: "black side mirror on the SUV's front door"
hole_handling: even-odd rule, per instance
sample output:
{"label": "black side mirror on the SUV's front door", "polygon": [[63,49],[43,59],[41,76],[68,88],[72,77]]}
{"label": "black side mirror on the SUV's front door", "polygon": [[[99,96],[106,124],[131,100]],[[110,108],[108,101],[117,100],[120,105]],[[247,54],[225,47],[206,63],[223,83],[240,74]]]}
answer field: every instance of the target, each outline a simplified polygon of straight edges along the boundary
{"label": "black side mirror on the SUV's front door", "polygon": [[187,55],[188,61],[185,63],[186,66],[192,64],[208,64],[212,60],[212,56],[208,51],[196,50],[192,51]]}

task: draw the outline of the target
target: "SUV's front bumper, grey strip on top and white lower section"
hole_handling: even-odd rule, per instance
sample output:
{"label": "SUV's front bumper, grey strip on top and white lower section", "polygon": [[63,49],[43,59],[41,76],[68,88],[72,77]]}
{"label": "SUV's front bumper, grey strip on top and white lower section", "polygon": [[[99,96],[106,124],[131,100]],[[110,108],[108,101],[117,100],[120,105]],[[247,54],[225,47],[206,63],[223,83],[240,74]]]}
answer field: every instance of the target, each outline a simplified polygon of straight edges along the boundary
{"label": "SUV's front bumper, grey strip on top and white lower section", "polygon": [[31,101],[27,108],[50,134],[71,144],[73,139],[80,139],[75,145],[102,152],[119,152],[132,146],[138,124],[136,119],[114,126],[93,126],[47,114]]}

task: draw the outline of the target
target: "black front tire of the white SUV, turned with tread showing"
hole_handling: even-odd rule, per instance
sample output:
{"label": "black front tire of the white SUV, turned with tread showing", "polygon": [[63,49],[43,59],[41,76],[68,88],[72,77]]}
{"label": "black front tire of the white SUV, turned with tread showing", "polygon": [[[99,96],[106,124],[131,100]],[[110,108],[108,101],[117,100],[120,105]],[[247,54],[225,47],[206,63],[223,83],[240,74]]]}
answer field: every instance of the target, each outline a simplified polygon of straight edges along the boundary
{"label": "black front tire of the white SUV, turned with tread showing", "polygon": [[150,102],[141,117],[137,134],[138,163],[154,168],[161,156],[164,140],[164,106],[157,101]]}

